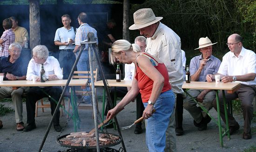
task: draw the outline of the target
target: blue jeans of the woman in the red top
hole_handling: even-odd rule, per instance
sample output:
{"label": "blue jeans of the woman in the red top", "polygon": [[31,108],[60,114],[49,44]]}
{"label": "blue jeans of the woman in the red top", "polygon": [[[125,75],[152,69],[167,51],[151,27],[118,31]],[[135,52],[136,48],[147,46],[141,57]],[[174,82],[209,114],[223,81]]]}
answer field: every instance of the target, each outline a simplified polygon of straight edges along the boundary
{"label": "blue jeans of the woman in the red top", "polygon": [[[164,152],[165,132],[173,112],[175,95],[172,90],[161,93],[155,101],[155,113],[147,119],[146,140],[149,152]],[[148,103],[143,103],[144,107]]]}

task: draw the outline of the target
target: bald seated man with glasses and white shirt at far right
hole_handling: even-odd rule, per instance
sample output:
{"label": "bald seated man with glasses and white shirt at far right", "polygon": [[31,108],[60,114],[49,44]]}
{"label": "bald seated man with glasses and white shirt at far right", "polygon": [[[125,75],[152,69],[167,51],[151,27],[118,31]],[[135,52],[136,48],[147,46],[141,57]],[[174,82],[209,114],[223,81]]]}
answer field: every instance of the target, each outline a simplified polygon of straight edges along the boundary
{"label": "bald seated man with glasses and white shirt at far right", "polygon": [[[240,88],[235,93],[228,94],[225,91],[225,97],[227,103],[236,98],[241,100],[244,119],[243,139],[251,139],[252,101],[256,91],[256,54],[243,47],[243,38],[238,34],[230,35],[227,45],[230,52],[223,56],[221,66],[216,75],[221,75],[223,83],[233,81],[241,83]],[[212,74],[207,75],[206,79],[208,82],[215,80]],[[226,122],[222,92],[219,92],[219,104],[222,120]],[[213,101],[213,106],[217,110],[216,99]],[[228,112],[228,119],[229,133],[231,135],[238,131],[240,126],[230,112]]]}

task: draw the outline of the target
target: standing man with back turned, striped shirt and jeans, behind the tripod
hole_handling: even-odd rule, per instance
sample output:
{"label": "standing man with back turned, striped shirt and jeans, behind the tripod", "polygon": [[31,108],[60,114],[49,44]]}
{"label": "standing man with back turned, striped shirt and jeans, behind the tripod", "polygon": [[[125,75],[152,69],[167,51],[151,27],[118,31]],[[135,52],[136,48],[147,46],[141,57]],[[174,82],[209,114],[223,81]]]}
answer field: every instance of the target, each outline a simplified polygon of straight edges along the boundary
{"label": "standing man with back turned, striped shirt and jeans, behind the tripod", "polygon": [[[79,53],[79,50],[80,50],[80,47],[81,47],[81,44],[80,42],[83,41],[83,40],[87,40],[87,35],[88,33],[94,33],[94,38],[97,38],[97,31],[89,26],[86,21],[87,21],[87,14],[82,12],[78,15],[78,23],[79,23],[79,28],[77,29],[76,31],[76,35],[75,35],[75,47],[74,47],[74,53],[75,53],[75,56],[77,57],[78,56],[78,53]],[[97,39],[97,44],[98,44],[98,39]],[[88,54],[88,44],[85,45],[85,48],[83,49],[83,52],[81,54],[81,57],[77,63],[77,70],[78,71],[89,71],[90,70],[90,67],[89,67],[89,54]],[[93,51],[93,50],[91,50]],[[93,54],[93,57],[95,60],[95,55],[94,53]],[[93,61],[94,63],[95,61]],[[96,64],[93,65],[94,69],[97,68],[96,67]],[[85,74],[80,74],[80,75],[85,75]],[[83,89],[84,91],[88,91],[88,89]],[[91,101],[88,100],[89,99],[89,96],[83,96],[82,97],[82,102],[83,103],[86,103],[86,104],[90,104]]]}

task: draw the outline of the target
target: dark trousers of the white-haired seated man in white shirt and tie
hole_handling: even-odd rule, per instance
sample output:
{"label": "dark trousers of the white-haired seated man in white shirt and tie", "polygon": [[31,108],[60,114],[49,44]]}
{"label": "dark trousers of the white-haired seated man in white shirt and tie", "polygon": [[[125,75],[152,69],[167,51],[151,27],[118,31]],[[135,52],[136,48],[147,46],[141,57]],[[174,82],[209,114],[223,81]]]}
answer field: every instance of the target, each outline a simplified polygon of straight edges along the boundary
{"label": "dark trousers of the white-haired seated man in white shirt and tie", "polygon": [[[47,94],[46,94],[47,93]],[[48,87],[30,87],[26,95],[26,107],[27,107],[27,124],[31,124],[35,122],[35,103],[37,100],[48,98],[51,103],[51,114],[54,114],[54,110],[56,109],[57,104],[54,102],[55,99],[57,102],[61,98],[62,89],[60,86],[48,86]],[[53,99],[52,99],[53,98]],[[54,125],[60,124],[60,109],[57,111],[56,117],[53,119]]]}

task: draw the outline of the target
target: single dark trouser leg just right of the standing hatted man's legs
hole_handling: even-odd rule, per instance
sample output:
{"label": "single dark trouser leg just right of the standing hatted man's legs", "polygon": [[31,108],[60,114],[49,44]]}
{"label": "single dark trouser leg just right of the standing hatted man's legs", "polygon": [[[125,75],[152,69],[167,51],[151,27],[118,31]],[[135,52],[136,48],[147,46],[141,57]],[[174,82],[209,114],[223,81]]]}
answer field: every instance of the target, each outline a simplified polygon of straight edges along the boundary
{"label": "single dark trouser leg just right of the standing hatted man's legs", "polygon": [[177,94],[175,108],[175,124],[176,128],[182,128],[183,121],[183,94]]}

